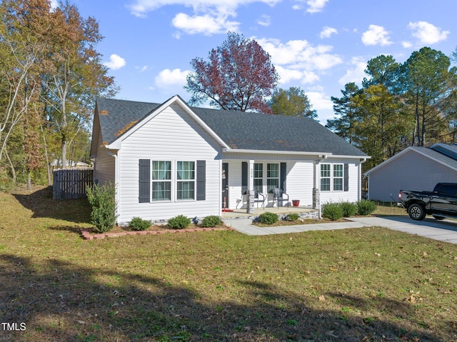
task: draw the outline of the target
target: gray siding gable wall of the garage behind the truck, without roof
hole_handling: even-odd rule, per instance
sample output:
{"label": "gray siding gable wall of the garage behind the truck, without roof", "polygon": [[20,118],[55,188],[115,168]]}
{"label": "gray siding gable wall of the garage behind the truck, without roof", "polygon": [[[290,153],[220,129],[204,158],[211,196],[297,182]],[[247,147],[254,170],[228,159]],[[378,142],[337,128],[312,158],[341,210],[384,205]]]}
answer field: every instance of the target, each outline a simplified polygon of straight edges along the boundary
{"label": "gray siding gable wall of the garage behind the truck, without roof", "polygon": [[439,182],[457,182],[457,171],[411,149],[369,174],[368,198],[397,201],[401,189],[431,191]]}

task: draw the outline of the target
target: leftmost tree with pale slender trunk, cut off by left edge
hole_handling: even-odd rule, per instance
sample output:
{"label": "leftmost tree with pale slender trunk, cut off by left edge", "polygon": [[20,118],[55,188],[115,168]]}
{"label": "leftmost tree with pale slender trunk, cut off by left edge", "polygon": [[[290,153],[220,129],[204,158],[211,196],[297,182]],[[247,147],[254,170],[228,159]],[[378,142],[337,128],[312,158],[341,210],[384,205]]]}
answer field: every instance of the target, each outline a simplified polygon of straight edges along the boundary
{"label": "leftmost tree with pale slender trunk, cut off by left edge", "polygon": [[[33,113],[32,104],[39,94],[44,32],[51,26],[44,19],[46,13],[49,4],[45,0],[5,0],[0,5],[0,161],[11,134],[28,112]],[[13,165],[11,159],[9,163]]]}

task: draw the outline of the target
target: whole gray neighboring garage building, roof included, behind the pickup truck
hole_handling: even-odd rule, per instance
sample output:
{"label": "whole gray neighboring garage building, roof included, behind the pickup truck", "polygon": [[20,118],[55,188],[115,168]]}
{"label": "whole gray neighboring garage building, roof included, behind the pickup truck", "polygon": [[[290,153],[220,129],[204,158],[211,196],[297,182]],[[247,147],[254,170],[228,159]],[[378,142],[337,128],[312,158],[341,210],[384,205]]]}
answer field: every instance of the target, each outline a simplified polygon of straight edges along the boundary
{"label": "whole gray neighboring garage building, roof included, behind the pickup truck", "polygon": [[367,197],[397,201],[398,191],[432,191],[436,183],[457,183],[457,145],[411,146],[366,171]]}

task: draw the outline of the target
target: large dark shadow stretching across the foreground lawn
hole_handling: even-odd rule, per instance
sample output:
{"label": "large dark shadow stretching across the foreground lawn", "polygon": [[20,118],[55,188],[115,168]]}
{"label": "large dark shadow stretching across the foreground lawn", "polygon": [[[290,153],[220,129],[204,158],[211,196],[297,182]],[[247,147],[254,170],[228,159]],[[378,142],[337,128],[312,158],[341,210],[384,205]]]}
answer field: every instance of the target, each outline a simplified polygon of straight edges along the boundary
{"label": "large dark shadow stretching across the foreground lawn", "polygon": [[[26,323],[26,331],[3,331],[1,341],[442,341],[426,328],[316,310],[310,304],[316,298],[266,283],[238,284],[248,303],[208,303],[192,288],[159,278],[3,255],[0,321]],[[326,296],[414,318],[408,303]],[[441,336],[452,336],[451,326],[441,324]]]}

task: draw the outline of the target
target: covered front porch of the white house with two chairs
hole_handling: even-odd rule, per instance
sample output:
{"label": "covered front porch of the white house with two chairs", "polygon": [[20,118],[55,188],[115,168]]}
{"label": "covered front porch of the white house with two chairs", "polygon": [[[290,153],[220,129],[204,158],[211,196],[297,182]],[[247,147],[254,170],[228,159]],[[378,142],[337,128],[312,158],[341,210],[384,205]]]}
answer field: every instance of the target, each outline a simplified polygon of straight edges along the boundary
{"label": "covered front porch of the white house with two chairs", "polygon": [[[316,161],[312,160],[313,156],[303,160],[293,160],[293,156],[282,156],[283,159],[278,159],[277,155],[260,157],[222,161],[223,217],[249,217],[258,216],[263,211],[291,213],[318,208],[315,198]],[[278,191],[280,194],[276,196],[275,192]],[[253,197],[248,201],[249,194]]]}

